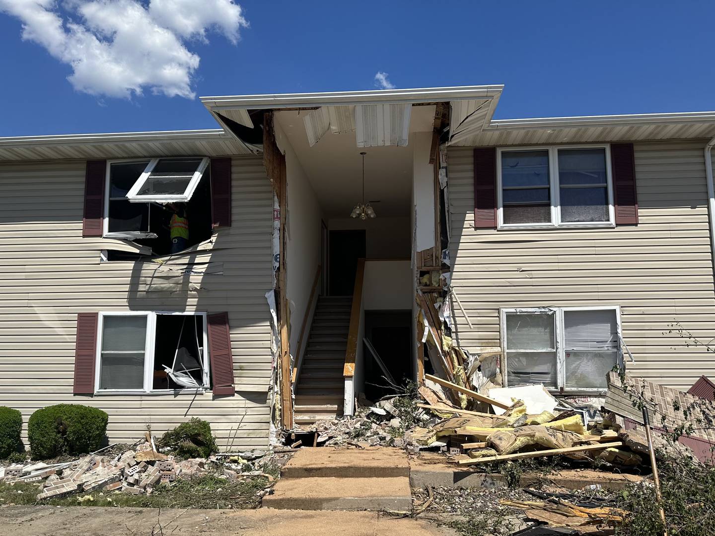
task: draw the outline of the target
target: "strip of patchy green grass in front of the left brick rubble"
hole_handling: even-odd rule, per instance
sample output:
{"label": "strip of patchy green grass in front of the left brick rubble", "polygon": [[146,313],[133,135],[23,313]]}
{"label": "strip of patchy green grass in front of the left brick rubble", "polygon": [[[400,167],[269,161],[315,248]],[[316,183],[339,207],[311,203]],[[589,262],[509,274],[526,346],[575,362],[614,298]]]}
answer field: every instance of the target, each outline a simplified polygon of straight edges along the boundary
{"label": "strip of patchy green grass in front of the left brick rubble", "polygon": [[[0,482],[0,505],[54,506],[114,506],[142,508],[221,508],[249,509],[260,506],[257,492],[268,487],[266,477],[250,477],[245,481],[231,481],[216,475],[203,475],[192,480],[177,480],[172,485],[159,485],[151,495],[132,495],[123,492],[77,493],[69,497],[37,501],[40,487],[31,484],[15,485]],[[92,500],[82,497],[91,496]]]}

